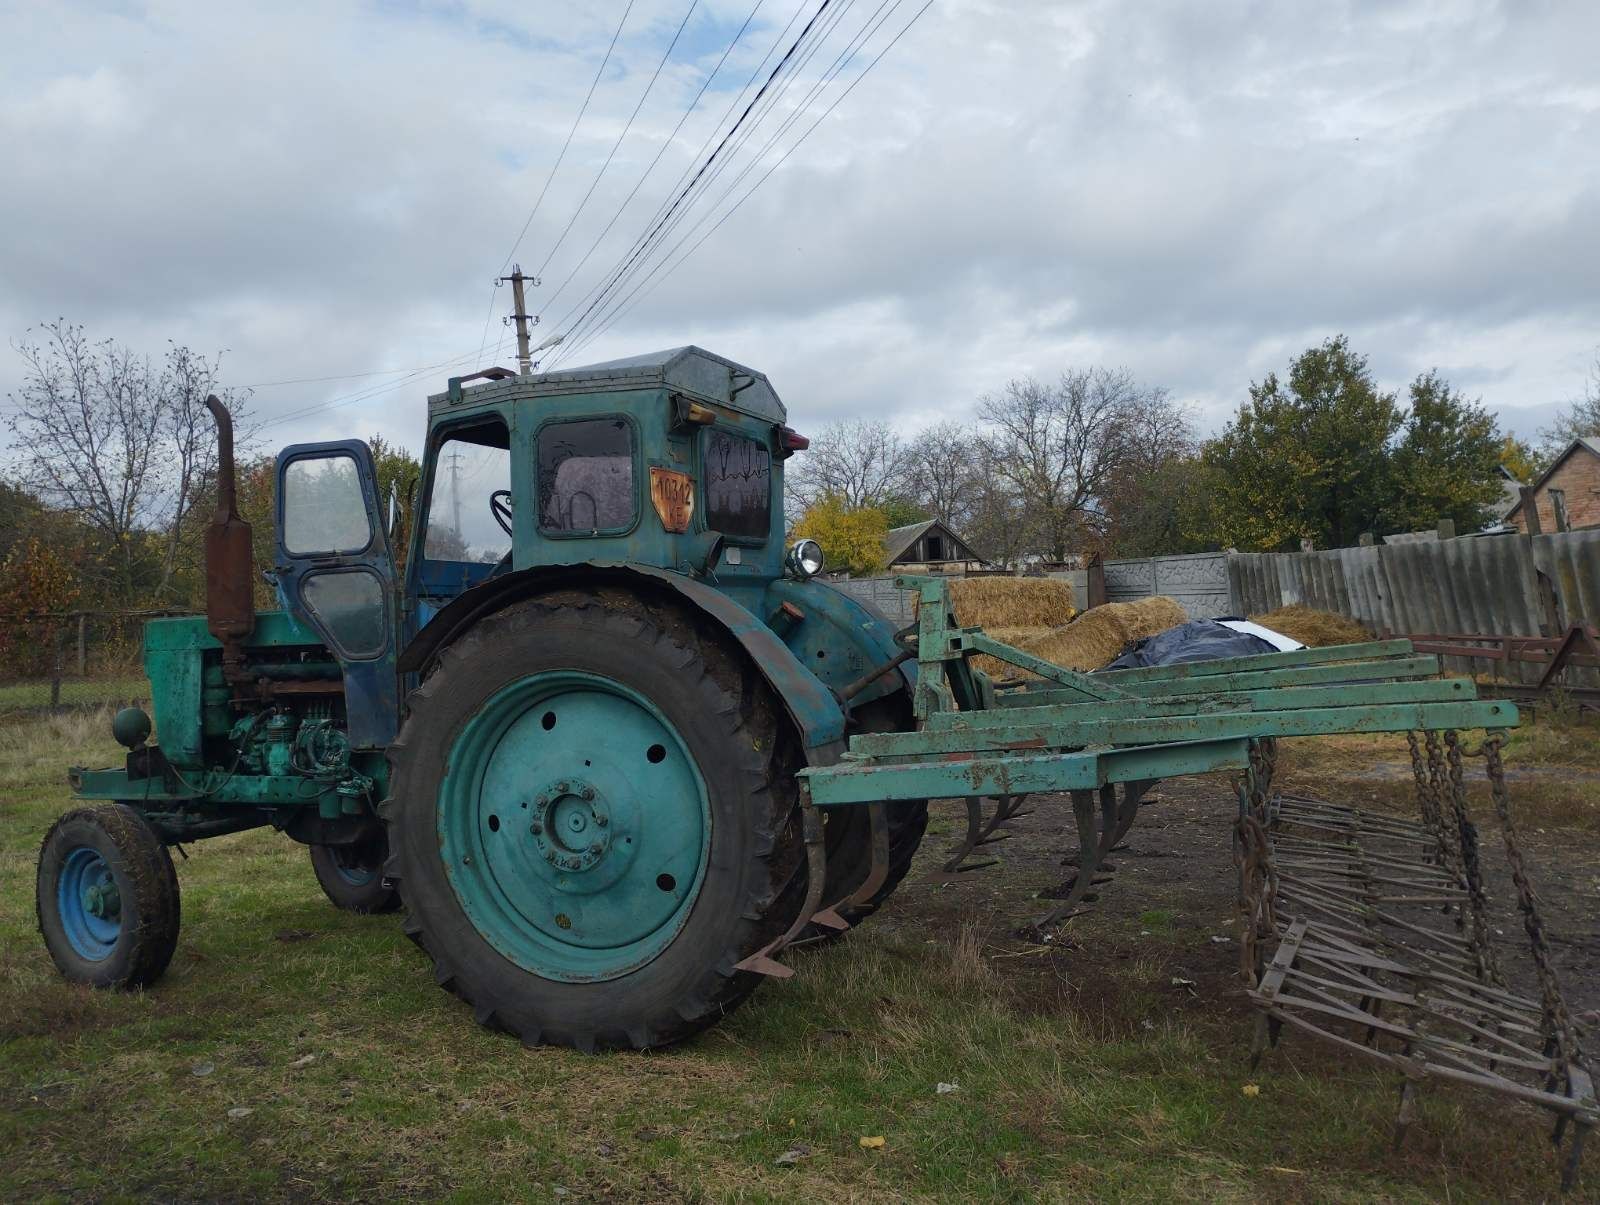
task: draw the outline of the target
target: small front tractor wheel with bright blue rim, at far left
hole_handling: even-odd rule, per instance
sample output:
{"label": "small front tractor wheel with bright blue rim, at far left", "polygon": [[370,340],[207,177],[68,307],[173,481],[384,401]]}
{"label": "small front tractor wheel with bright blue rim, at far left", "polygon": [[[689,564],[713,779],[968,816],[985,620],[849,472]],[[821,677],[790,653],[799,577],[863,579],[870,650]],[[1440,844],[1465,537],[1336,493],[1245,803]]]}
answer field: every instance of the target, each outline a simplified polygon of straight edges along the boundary
{"label": "small front tractor wheel with bright blue rim, at far left", "polygon": [[133,808],[58,819],[38,850],[38,931],[61,973],[93,987],[146,987],[178,947],[178,875]]}

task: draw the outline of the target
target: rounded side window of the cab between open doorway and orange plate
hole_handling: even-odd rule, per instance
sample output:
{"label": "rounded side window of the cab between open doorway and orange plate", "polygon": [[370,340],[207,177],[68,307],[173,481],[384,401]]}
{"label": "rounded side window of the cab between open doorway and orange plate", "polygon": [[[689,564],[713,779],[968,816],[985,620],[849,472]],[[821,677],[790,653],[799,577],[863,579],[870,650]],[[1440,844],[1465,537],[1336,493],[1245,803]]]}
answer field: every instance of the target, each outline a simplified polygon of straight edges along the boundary
{"label": "rounded side window of the cab between open doorway and orange plate", "polygon": [[539,429],[539,526],[594,534],[634,525],[634,427],[621,418]]}

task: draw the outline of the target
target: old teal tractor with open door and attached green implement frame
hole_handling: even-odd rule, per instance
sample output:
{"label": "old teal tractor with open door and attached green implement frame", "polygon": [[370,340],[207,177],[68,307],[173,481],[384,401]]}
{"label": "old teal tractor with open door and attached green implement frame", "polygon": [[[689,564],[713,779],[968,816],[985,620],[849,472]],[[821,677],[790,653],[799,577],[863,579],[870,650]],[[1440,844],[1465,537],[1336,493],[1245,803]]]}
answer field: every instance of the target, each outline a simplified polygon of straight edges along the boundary
{"label": "old teal tractor with open door and attached green implement frame", "polygon": [[869,917],[928,799],[966,805],[949,872],[1029,797],[1070,799],[1078,874],[1048,936],[1162,778],[1248,770],[1277,736],[1517,722],[1405,640],[1086,675],[963,627],[938,578],[902,579],[896,631],[816,579],[814,542],[784,547],[806,440],[762,373],[698,347],[450,379],[403,573],[408,507],[366,445],[285,448],[280,607],[258,613],[210,406],[206,615],[144,635],[158,744],[120,712],[125,763],[69,771],[90,805],[40,851],[40,930],[80,983],[166,968],[173,845],[270,826],[339,907],[403,907],[478,1023],[642,1050]]}

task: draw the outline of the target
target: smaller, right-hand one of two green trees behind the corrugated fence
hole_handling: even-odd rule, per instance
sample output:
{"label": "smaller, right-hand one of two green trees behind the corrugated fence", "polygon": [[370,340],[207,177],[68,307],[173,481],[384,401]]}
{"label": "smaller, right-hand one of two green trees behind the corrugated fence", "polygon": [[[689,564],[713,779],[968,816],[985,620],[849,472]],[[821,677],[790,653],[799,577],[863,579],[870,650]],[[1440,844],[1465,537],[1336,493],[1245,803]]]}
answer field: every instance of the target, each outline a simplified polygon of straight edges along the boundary
{"label": "smaller, right-hand one of two green trees behind the corrugated fence", "polygon": [[1438,376],[1418,374],[1400,442],[1390,454],[1394,501],[1386,530],[1416,531],[1450,518],[1458,531],[1486,526],[1502,496],[1504,440],[1494,416]]}

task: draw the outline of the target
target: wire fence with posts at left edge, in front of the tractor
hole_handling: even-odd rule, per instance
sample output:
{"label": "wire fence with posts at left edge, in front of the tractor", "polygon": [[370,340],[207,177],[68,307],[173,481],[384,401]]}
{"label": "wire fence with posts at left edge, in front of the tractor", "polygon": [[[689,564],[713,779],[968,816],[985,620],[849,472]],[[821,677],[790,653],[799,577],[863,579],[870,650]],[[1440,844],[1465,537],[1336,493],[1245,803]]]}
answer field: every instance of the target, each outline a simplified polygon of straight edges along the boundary
{"label": "wire fence with posts at left edge, in front of the tractor", "polygon": [[147,699],[144,624],[186,611],[0,615],[0,717]]}

